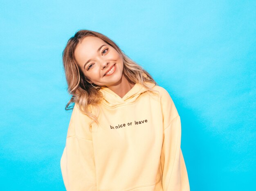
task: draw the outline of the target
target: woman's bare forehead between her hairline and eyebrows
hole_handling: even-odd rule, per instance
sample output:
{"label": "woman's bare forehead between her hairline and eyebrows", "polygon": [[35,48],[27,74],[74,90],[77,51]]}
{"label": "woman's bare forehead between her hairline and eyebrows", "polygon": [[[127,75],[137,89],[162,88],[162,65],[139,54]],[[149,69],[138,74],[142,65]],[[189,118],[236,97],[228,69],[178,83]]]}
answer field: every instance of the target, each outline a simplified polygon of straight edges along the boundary
{"label": "woman's bare forehead between her hairline and eyebrows", "polygon": [[74,57],[76,61],[80,64],[83,61],[87,61],[92,56],[97,54],[98,48],[107,44],[98,37],[85,37],[77,44],[74,50]]}

